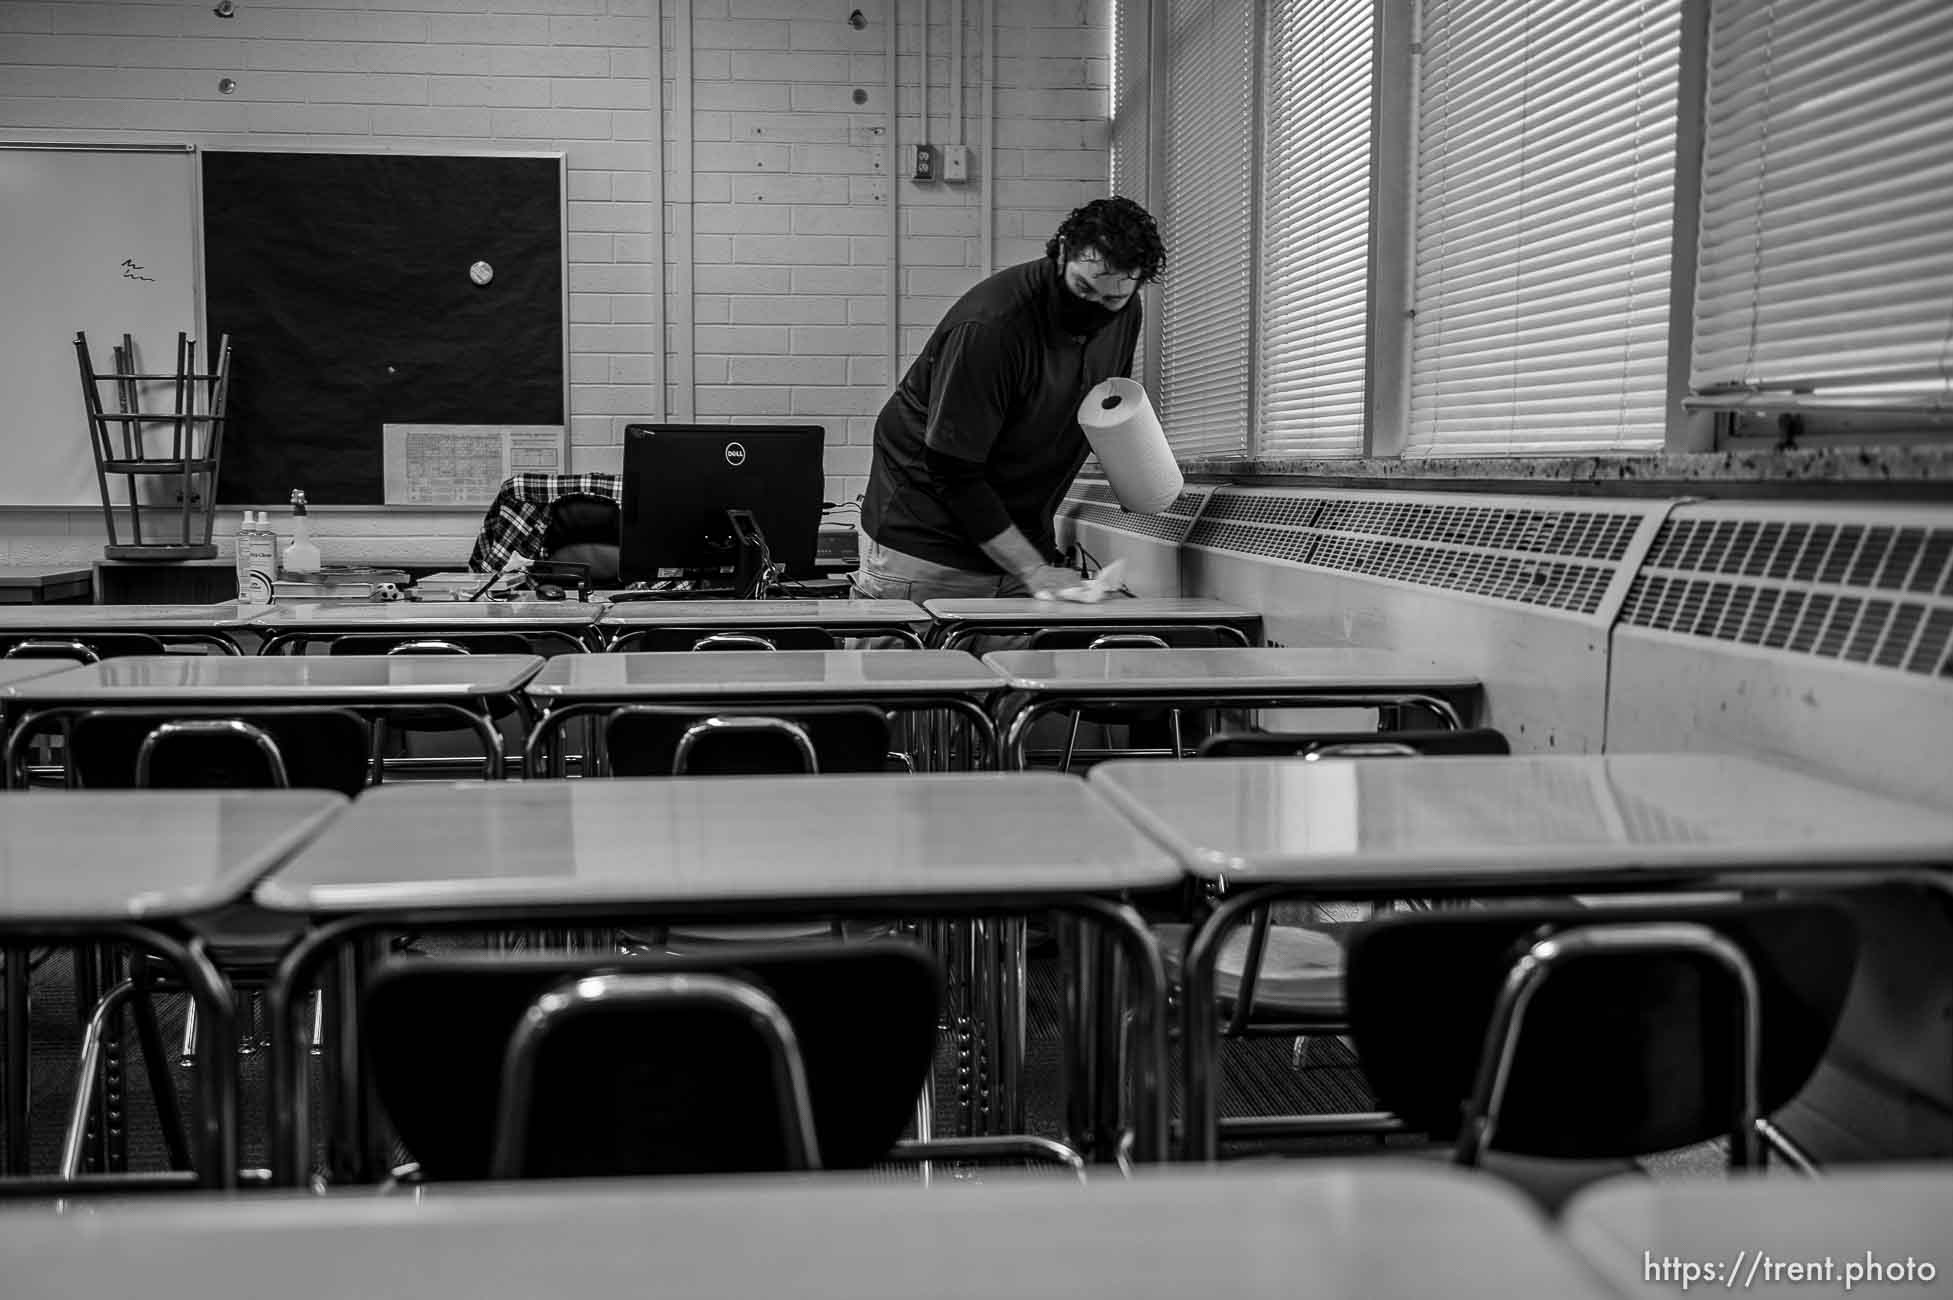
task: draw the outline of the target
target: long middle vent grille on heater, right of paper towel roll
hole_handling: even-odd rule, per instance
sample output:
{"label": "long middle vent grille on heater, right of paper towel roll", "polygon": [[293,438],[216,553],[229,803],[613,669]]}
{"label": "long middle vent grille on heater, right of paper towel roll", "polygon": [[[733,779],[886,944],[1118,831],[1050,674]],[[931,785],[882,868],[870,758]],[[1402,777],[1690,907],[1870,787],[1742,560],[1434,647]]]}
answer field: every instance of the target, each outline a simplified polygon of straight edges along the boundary
{"label": "long middle vent grille on heater, right of paper towel roll", "polygon": [[1646,508],[1223,488],[1189,547],[1596,615]]}

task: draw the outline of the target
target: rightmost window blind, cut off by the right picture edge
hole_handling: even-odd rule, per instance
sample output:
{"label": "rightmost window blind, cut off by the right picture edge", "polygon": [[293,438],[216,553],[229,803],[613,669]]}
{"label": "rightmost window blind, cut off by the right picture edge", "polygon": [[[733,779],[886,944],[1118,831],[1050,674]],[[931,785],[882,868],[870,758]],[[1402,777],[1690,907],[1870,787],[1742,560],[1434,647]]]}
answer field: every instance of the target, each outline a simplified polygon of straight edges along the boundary
{"label": "rightmost window blind, cut off by the right picture edge", "polygon": [[1689,388],[1953,404],[1953,8],[1717,0],[1709,21]]}

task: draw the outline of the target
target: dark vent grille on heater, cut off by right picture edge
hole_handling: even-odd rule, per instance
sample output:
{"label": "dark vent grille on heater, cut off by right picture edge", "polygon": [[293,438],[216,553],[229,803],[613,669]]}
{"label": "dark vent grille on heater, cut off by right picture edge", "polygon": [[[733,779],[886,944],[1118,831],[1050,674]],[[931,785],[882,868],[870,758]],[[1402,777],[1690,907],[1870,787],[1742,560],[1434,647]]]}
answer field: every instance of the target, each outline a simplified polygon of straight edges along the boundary
{"label": "dark vent grille on heater, cut off by right picture edge", "polygon": [[1623,625],[1953,675],[1953,527],[1685,509],[1656,535]]}

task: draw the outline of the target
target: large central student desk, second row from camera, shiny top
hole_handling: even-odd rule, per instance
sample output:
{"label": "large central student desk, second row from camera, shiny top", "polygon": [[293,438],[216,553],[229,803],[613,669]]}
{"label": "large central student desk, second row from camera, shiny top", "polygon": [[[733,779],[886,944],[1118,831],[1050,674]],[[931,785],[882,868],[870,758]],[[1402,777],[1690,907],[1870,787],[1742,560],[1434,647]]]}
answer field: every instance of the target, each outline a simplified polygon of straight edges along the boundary
{"label": "large central student desk, second row from camera, shiny top", "polygon": [[[1043,910],[1109,929],[1129,958],[1135,1158],[1158,1159],[1164,974],[1146,927],[1117,900],[1176,880],[1166,853],[1082,781],[1055,773],[383,787],[256,892],[268,910],[330,921],[285,958],[271,990],[275,1179],[303,1177],[311,1152],[299,1120],[305,1027],[293,1009],[324,958],[355,935]],[[1014,1079],[1010,1035],[1002,1048]],[[342,1031],[336,1050],[346,1087],[361,1077],[357,1035]],[[336,1113],[355,1117],[357,1105],[348,1095]],[[352,1128],[363,1130],[357,1118]],[[334,1167],[357,1175],[359,1154]]]}

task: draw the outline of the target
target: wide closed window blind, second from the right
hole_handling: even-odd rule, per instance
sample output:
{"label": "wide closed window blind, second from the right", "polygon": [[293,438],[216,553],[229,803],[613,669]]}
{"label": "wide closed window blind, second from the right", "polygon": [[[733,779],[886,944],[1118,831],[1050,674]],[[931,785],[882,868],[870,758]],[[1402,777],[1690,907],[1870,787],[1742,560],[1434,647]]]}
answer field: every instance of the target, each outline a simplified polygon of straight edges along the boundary
{"label": "wide closed window blind, second from the right", "polygon": [[1406,455],[1660,449],[1682,0],[1424,0]]}

